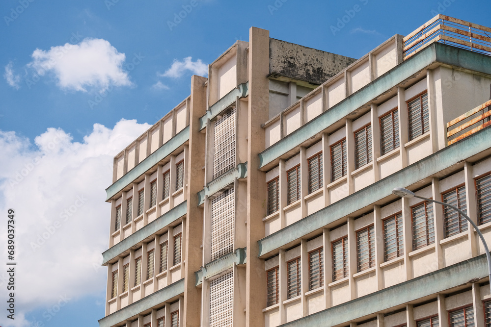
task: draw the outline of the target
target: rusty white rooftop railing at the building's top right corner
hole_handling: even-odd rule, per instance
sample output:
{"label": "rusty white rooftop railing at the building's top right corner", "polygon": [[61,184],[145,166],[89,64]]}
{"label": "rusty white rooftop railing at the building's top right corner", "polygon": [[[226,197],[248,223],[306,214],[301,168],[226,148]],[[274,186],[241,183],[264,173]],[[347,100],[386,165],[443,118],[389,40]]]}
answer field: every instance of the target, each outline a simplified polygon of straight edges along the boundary
{"label": "rusty white rooftop railing at the building's top right corner", "polygon": [[404,59],[433,42],[491,55],[491,28],[437,15],[403,39]]}

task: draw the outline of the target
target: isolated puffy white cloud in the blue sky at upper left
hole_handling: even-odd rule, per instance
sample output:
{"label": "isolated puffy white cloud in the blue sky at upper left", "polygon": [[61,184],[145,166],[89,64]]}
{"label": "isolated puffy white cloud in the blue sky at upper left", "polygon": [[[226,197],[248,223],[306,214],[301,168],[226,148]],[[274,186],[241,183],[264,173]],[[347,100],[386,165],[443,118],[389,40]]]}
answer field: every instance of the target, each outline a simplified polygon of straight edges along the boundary
{"label": "isolated puffy white cloud in the blue sky at upper left", "polygon": [[109,84],[131,86],[128,72],[123,69],[126,56],[103,39],[66,43],[50,50],[36,49],[28,64],[38,75],[55,75],[62,89],[86,92],[86,88],[106,90]]}

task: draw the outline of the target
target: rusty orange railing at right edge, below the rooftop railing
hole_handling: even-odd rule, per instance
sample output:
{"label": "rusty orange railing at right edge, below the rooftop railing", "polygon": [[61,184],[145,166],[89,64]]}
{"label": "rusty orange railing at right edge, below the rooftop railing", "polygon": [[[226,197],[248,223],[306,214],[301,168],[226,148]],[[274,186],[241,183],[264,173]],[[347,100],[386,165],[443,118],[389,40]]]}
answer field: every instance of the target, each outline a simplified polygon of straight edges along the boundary
{"label": "rusty orange railing at right edge, below the rooftop railing", "polygon": [[491,125],[491,100],[447,123],[447,145]]}

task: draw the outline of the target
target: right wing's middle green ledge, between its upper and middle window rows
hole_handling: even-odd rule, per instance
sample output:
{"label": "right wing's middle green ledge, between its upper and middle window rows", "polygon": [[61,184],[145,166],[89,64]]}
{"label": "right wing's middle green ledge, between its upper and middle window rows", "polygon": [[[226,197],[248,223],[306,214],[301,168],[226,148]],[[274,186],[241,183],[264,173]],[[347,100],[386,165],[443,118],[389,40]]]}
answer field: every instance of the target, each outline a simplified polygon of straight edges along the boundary
{"label": "right wing's middle green ledge, between its upper and middle window rows", "polygon": [[258,241],[259,254],[263,256],[305,234],[318,230],[352,212],[382,200],[392,194],[395,187],[408,187],[432,176],[466,158],[491,147],[491,128],[485,128],[418,162],[401,169],[327,207],[314,212],[292,225],[274,232]]}

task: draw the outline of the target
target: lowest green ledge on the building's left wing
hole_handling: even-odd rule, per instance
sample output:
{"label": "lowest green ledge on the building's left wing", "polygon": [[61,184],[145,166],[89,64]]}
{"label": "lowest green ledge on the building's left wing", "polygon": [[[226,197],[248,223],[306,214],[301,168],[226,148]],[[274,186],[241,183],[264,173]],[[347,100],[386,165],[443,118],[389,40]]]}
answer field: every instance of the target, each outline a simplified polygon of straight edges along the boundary
{"label": "lowest green ledge on the building's left wing", "polygon": [[184,278],[99,320],[99,327],[111,327],[184,293]]}

